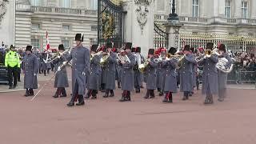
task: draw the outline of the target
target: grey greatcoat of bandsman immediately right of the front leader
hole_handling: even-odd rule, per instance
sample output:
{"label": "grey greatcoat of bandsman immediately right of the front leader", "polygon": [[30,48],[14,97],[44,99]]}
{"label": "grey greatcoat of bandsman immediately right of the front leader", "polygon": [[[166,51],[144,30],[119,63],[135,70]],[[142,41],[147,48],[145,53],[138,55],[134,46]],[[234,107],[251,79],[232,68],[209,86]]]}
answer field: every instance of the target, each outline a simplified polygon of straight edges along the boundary
{"label": "grey greatcoat of bandsman immediately right of the front leader", "polygon": [[101,56],[95,55],[94,58],[92,58],[90,61],[90,74],[87,83],[89,90],[98,90],[98,82],[101,74],[101,66],[99,65],[100,60]]}

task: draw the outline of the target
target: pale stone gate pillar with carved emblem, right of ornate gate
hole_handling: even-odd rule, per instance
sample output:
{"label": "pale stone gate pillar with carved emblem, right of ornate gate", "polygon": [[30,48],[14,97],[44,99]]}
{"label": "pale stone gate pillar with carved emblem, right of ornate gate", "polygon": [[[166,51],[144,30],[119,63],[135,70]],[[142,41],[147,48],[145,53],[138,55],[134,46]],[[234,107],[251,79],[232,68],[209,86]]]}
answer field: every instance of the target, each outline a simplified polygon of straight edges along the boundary
{"label": "pale stone gate pillar with carved emblem, right of ornate gate", "polygon": [[154,48],[154,2],[153,0],[131,0],[123,3],[124,42],[142,47],[146,56]]}

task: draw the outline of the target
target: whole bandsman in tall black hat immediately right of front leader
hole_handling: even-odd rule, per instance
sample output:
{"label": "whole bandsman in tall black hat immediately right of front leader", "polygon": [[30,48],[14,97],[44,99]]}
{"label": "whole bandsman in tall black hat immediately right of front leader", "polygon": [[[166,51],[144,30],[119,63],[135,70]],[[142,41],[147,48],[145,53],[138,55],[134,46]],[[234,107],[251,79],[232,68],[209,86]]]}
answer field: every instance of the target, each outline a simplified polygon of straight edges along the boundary
{"label": "whole bandsman in tall black hat immediately right of front leader", "polygon": [[90,74],[88,77],[87,89],[88,92],[85,98],[97,98],[98,81],[100,78],[100,60],[101,55],[96,54],[98,45],[92,45],[90,48]]}

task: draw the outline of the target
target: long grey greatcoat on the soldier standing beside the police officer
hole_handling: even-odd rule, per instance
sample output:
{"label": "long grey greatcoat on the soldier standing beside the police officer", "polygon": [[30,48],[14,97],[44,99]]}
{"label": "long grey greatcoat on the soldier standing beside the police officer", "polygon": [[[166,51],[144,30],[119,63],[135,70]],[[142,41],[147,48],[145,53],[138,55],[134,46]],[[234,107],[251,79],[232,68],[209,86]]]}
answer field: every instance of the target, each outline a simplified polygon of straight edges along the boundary
{"label": "long grey greatcoat on the soldier standing beside the police officer", "polygon": [[34,74],[38,74],[38,58],[34,54],[26,54],[23,58],[24,70],[24,89],[37,89],[38,78]]}

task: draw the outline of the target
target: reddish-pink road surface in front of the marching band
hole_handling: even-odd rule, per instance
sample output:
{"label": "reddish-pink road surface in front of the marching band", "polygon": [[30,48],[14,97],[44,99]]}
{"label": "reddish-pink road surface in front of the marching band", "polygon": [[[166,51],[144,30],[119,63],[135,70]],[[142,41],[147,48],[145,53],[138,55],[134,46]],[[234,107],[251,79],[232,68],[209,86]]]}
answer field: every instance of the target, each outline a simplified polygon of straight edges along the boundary
{"label": "reddish-pink road surface in front of the marching band", "polygon": [[[41,77],[41,76],[40,76]],[[49,77],[39,78],[42,86]],[[34,101],[24,91],[0,94],[1,144],[255,144],[256,90],[227,89],[227,98],[204,106],[201,90],[188,101],[174,94],[174,103],[142,98],[86,100],[67,107],[67,98],[52,98],[53,82]],[[67,89],[70,94],[70,88]],[[37,90],[35,91],[37,92]],[[155,92],[156,93],[156,92]],[[157,93],[156,93],[157,95]]]}

